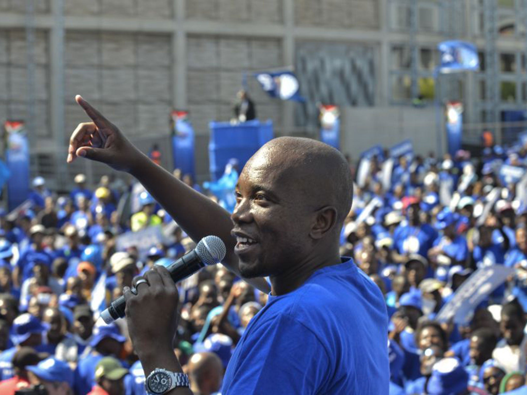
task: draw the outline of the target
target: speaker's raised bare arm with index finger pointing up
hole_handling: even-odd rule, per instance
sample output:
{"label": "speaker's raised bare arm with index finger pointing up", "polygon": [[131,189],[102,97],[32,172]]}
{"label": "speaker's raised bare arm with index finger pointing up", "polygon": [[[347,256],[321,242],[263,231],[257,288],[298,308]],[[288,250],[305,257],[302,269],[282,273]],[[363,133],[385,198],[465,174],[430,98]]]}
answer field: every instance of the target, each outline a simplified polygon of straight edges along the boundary
{"label": "speaker's raised bare arm with index finger pointing up", "polygon": [[[209,234],[218,236],[227,247],[223,264],[239,275],[234,253],[235,238],[230,234],[229,213],[208,197],[194,191],[139,151],[124,134],[80,95],[75,97],[92,122],[80,123],[70,138],[67,163],[77,156],[102,162],[132,174],[196,243]],[[264,279],[246,280],[268,293]]]}

